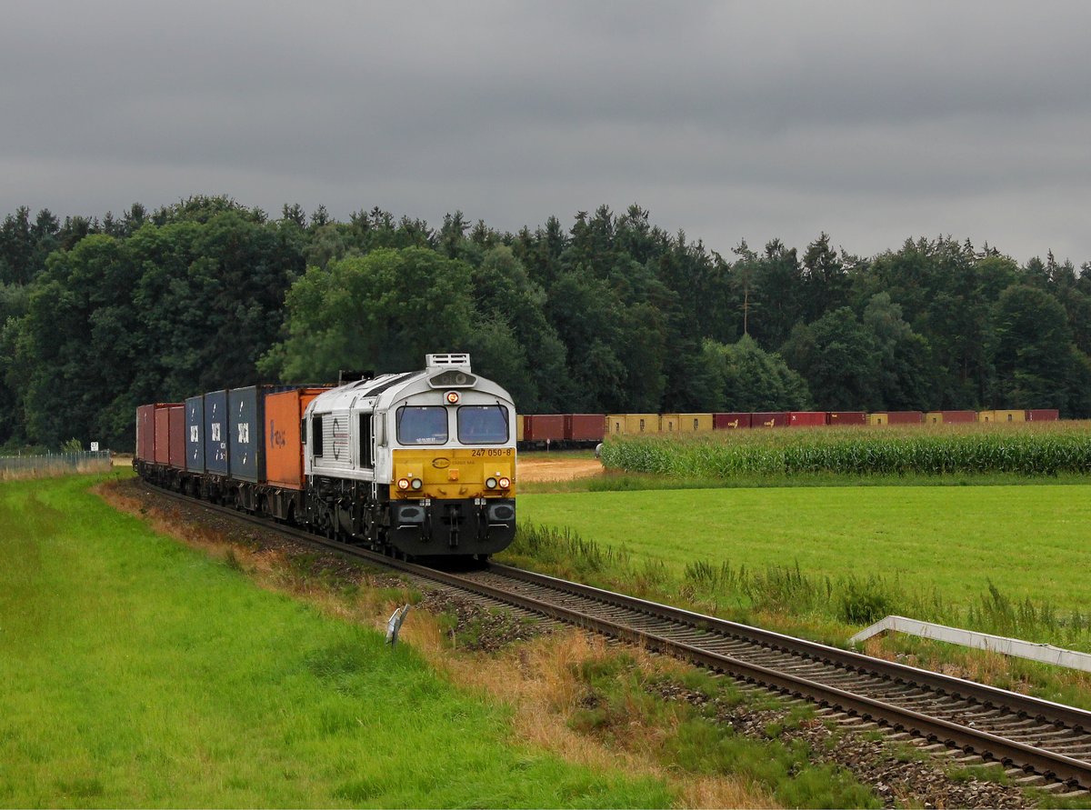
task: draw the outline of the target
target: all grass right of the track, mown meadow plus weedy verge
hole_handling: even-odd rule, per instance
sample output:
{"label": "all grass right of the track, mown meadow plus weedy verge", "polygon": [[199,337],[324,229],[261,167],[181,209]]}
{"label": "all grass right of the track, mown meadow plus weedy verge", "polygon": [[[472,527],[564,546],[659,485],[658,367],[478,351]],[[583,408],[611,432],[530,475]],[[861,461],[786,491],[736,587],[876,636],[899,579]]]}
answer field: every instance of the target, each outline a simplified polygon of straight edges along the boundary
{"label": "all grass right of the track, mown meadow plus weedy verge", "polygon": [[[1091,652],[1091,487],[915,483],[525,493],[500,560],[837,645],[895,614]],[[1078,670],[867,650],[1091,708]]]}

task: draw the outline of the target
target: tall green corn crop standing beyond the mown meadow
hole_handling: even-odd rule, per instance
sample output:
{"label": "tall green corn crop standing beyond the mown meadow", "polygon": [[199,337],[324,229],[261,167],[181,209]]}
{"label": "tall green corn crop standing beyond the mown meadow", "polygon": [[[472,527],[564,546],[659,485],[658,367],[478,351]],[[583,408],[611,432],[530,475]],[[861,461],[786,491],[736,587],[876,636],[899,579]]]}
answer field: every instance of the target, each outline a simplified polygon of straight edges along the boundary
{"label": "tall green corn crop standing beyond the mown meadow", "polygon": [[608,468],[683,478],[1091,473],[1091,422],[783,428],[618,437]]}

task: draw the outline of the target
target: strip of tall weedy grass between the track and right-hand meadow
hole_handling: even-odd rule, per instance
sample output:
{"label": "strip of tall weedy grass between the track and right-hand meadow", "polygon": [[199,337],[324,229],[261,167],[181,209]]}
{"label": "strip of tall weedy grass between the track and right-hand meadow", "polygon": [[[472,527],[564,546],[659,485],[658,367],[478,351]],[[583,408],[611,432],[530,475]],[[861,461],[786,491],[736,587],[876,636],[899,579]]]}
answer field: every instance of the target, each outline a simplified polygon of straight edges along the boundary
{"label": "strip of tall weedy grass between the track and right-hand meadow", "polygon": [[[992,583],[976,596],[959,599],[899,577],[816,574],[799,563],[747,568],[698,559],[680,571],[624,546],[587,540],[571,528],[526,522],[499,561],[838,646],[863,627],[901,615],[1091,652],[1091,611],[1016,597]],[[1087,672],[908,636],[868,644],[873,653],[911,656],[930,668],[1091,708]]]}

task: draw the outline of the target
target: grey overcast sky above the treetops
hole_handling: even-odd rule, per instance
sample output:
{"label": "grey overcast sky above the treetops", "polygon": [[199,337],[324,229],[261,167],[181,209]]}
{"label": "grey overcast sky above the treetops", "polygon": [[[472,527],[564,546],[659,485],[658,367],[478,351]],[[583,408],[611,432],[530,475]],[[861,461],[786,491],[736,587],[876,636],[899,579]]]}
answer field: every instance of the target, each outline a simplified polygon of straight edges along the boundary
{"label": "grey overcast sky above the treetops", "polygon": [[515,230],[631,203],[1091,260],[1091,3],[9,2],[0,216],[229,194]]}

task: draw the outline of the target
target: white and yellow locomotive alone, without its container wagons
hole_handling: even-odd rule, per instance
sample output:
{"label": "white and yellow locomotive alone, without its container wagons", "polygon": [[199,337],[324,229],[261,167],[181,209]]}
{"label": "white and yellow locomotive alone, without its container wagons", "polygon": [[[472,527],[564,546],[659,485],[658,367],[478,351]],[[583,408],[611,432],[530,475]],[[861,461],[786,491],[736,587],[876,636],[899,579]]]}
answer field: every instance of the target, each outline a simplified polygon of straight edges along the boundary
{"label": "white and yellow locomotive alone, without its container wagons", "polygon": [[494,553],[515,534],[515,419],[464,354],[324,392],[301,426],[303,521],[405,555]]}

